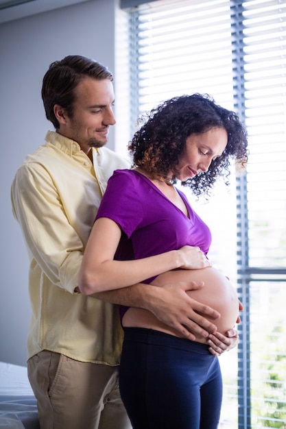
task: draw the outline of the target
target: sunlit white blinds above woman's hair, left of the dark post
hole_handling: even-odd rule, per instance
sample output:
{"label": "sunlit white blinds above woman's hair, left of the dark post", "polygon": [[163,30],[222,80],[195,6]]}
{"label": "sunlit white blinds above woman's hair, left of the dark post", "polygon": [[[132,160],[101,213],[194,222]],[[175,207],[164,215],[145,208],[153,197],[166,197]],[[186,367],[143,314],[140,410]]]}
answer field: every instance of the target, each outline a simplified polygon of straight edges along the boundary
{"label": "sunlit white blinds above woman's hair, left of the dark post", "polygon": [[193,92],[233,106],[227,0],[146,4],[138,31],[140,112]]}

